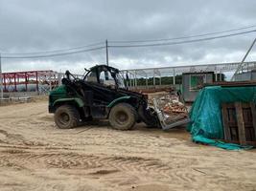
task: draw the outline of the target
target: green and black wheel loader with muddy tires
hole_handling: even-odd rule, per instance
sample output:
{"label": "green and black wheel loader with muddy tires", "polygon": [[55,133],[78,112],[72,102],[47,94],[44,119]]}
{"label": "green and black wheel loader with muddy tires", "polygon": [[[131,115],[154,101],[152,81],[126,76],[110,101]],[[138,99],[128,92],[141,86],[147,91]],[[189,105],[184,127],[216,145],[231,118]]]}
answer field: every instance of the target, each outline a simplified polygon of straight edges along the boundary
{"label": "green and black wheel loader with muddy tires", "polygon": [[73,128],[85,121],[108,119],[114,129],[129,130],[136,122],[159,126],[147,96],[128,91],[118,69],[96,65],[83,79],[70,72],[62,85],[49,96],[49,112],[55,114],[58,128]]}

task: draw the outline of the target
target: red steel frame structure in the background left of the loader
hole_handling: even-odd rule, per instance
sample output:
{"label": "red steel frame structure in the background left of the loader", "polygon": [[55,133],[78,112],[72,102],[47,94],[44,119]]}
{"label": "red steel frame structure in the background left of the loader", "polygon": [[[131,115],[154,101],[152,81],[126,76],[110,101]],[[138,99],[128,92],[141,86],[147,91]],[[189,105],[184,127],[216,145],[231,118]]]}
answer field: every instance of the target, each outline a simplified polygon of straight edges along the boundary
{"label": "red steel frame structure in the background left of the loader", "polygon": [[[48,80],[54,76],[56,79],[57,73],[54,71],[27,71],[15,73],[3,73],[4,92],[17,92],[17,85],[25,85],[25,91],[28,92],[28,85],[35,84],[35,89],[38,92],[39,84],[57,85],[58,80]],[[13,88],[10,90],[10,86]]]}

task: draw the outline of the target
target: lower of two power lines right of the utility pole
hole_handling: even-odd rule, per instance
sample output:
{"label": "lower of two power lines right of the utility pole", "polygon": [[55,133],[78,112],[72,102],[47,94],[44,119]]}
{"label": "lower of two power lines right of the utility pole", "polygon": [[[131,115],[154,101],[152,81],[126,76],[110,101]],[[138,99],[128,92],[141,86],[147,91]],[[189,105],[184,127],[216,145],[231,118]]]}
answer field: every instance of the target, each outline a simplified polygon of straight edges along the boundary
{"label": "lower of two power lines right of the utility pole", "polygon": [[225,35],[219,35],[219,36],[207,37],[207,38],[199,38],[199,39],[194,39],[194,40],[184,40],[184,41],[178,41],[178,42],[163,42],[163,43],[137,44],[137,45],[109,45],[108,47],[110,47],[110,48],[133,48],[133,47],[170,46],[170,45],[179,45],[179,44],[214,40],[214,39],[236,36],[236,35],[241,35],[241,34],[244,34],[244,33],[251,33],[251,32],[256,32],[256,30],[247,31],[247,32],[237,32],[237,33],[231,33],[231,34],[225,34]]}

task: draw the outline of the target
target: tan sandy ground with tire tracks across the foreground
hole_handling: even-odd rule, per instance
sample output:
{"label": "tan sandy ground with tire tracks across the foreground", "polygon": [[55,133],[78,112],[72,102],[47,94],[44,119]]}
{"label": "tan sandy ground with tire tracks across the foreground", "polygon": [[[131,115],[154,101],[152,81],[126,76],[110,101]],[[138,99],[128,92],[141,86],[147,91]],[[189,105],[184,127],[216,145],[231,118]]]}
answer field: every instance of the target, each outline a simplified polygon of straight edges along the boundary
{"label": "tan sandy ground with tire tracks across the foreground", "polygon": [[143,124],[59,130],[40,100],[0,107],[0,190],[256,190],[256,152]]}

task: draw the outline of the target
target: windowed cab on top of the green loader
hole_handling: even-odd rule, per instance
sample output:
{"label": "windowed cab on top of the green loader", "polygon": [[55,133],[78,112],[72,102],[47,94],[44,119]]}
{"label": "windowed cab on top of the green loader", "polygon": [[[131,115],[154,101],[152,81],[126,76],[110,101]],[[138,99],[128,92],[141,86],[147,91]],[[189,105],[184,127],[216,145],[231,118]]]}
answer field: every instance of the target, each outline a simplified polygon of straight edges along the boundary
{"label": "windowed cab on top of the green loader", "polygon": [[92,67],[87,74],[85,74],[83,80],[116,89],[126,88],[124,77],[119,73],[119,70],[106,65],[96,65]]}

